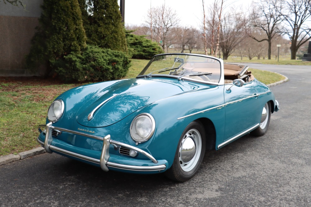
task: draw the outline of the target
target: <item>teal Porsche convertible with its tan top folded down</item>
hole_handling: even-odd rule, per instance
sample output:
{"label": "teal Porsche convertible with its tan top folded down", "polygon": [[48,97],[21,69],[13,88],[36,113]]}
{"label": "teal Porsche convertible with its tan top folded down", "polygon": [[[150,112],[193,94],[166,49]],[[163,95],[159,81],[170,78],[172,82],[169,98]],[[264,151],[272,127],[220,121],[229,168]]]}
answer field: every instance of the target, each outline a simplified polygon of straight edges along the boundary
{"label": "teal Porsche convertible with its tan top folded down", "polygon": [[154,56],[134,79],[64,92],[39,126],[46,152],[104,171],[195,175],[205,150],[262,136],[279,105],[247,66],[205,55]]}

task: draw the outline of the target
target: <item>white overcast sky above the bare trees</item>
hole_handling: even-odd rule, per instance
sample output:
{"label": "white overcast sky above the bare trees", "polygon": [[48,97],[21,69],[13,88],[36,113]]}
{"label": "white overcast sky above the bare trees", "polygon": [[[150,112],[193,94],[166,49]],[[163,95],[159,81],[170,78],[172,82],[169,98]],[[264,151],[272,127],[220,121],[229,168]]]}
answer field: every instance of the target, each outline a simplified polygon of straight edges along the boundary
{"label": "white overcast sky above the bare trees", "polygon": [[[125,24],[141,25],[147,16],[147,11],[151,7],[161,6],[165,2],[167,7],[176,10],[180,18],[181,25],[201,27],[203,18],[202,0],[125,0]],[[205,0],[205,4],[214,2]],[[248,8],[251,0],[227,0],[230,4],[239,9],[242,5]]]}

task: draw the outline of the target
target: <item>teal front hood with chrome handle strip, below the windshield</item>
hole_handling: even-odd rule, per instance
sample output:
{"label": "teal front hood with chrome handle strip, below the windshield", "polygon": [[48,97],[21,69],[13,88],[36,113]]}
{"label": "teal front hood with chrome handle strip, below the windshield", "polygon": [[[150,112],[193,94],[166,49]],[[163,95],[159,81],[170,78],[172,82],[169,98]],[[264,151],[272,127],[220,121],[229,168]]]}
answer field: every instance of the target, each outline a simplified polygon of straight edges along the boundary
{"label": "teal front hood with chrome handle strip, below the windshield", "polygon": [[[76,119],[86,127],[109,126],[157,100],[197,88],[195,84],[163,78],[118,81],[86,100],[78,110]],[[88,117],[92,111],[90,119]]]}

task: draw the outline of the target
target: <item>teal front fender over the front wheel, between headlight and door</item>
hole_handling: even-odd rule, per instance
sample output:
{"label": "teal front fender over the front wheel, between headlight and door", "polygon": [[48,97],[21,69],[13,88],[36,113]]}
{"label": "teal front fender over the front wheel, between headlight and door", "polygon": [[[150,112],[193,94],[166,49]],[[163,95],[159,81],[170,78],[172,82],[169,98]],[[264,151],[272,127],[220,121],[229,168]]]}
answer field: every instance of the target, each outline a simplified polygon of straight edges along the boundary
{"label": "teal front fender over the front wheel, between headlight and door", "polygon": [[150,113],[156,122],[153,137],[140,145],[148,149],[156,159],[166,159],[170,167],[184,129],[192,121],[201,118],[209,119],[214,124],[216,140],[221,143],[224,136],[225,108],[215,107],[224,103],[222,91],[223,86],[192,91],[157,101],[140,109],[137,115]]}

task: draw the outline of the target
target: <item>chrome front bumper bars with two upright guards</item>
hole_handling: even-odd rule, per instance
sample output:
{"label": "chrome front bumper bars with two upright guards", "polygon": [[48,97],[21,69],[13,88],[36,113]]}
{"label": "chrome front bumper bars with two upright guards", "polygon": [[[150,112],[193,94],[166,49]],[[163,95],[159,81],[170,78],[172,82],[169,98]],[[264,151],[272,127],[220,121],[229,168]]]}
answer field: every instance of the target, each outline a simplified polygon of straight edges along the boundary
{"label": "chrome front bumper bars with two upright guards", "polygon": [[[67,154],[70,155],[72,157],[76,157],[82,160],[86,160],[92,163],[96,163],[96,164],[100,164],[100,168],[104,171],[109,171],[108,167],[111,168],[118,168],[118,169],[123,169],[123,170],[132,170],[132,171],[161,171],[164,170],[166,168],[165,164],[162,165],[158,165],[158,166],[133,166],[133,165],[124,165],[124,164],[118,164],[118,163],[112,163],[112,162],[108,162],[109,159],[109,145],[119,145],[119,146],[123,146],[123,147],[127,147],[128,149],[132,149],[135,150],[143,155],[145,155],[147,158],[151,159],[153,163],[158,163],[158,161],[152,157],[151,154],[145,152],[144,150],[141,150],[137,147],[133,147],[131,145],[128,144],[124,144],[122,142],[118,142],[118,141],[114,141],[110,139],[110,135],[107,135],[105,137],[99,137],[99,136],[94,136],[94,135],[89,135],[89,134],[85,134],[82,132],[78,132],[78,131],[72,131],[69,129],[64,129],[64,128],[60,128],[60,127],[54,127],[52,126],[52,122],[49,122],[47,125],[39,125],[39,131],[41,131],[40,128],[45,127],[46,132],[45,132],[45,140],[44,143],[42,141],[39,140],[39,138],[37,139],[37,141],[44,146],[44,149],[46,152],[48,153],[52,153],[52,150],[63,153],[63,154]],[[77,154],[74,152],[70,152],[67,150],[63,150],[61,148],[55,147],[53,145],[51,145],[52,143],[52,129],[53,130],[59,130],[59,131],[64,131],[64,132],[68,132],[68,133],[72,133],[72,134],[76,134],[76,135],[81,135],[81,136],[86,136],[89,138],[93,138],[93,139],[97,139],[97,140],[103,140],[103,149],[101,151],[101,155],[100,155],[100,159],[95,159],[95,158],[91,158],[91,157],[87,157],[81,154]]]}

